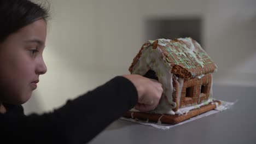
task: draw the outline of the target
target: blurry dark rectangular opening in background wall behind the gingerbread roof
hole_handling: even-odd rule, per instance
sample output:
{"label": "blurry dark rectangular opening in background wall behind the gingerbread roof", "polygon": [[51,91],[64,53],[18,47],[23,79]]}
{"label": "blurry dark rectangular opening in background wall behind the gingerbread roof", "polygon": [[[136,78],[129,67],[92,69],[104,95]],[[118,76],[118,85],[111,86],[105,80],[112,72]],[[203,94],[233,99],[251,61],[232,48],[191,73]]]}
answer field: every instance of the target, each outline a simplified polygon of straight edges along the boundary
{"label": "blurry dark rectangular opening in background wall behind the gingerbread roof", "polygon": [[146,20],[145,40],[191,37],[201,44],[201,18],[149,18]]}

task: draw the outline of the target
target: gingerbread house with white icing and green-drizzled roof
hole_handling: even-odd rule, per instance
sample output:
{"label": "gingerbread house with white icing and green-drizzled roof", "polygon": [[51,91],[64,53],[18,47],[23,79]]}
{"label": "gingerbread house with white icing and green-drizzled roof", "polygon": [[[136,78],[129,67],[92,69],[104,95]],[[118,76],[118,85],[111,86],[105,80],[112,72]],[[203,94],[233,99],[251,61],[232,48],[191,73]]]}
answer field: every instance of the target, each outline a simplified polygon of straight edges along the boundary
{"label": "gingerbread house with white icing and green-drizzled roof", "polygon": [[129,71],[158,80],[164,91],[155,110],[133,109],[124,116],[152,121],[161,117],[165,123],[178,123],[214,109],[211,90],[216,69],[200,44],[191,38],[149,40],[133,59]]}

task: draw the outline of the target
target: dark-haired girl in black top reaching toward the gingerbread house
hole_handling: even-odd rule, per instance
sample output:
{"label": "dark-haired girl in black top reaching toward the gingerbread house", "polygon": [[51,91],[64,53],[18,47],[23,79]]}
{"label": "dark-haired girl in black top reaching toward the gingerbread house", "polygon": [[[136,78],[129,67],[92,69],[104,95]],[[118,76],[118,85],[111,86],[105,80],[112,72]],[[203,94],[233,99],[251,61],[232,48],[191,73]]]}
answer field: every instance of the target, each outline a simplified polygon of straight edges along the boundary
{"label": "dark-haired girl in black top reaching toward the gingerbread house", "polygon": [[[124,112],[155,109],[158,81],[117,76],[49,113],[24,115],[26,103],[46,73],[42,53],[48,10],[28,0],[0,0],[0,133],[8,143],[89,142]],[[98,105],[98,106],[95,106]]]}

